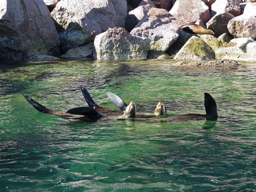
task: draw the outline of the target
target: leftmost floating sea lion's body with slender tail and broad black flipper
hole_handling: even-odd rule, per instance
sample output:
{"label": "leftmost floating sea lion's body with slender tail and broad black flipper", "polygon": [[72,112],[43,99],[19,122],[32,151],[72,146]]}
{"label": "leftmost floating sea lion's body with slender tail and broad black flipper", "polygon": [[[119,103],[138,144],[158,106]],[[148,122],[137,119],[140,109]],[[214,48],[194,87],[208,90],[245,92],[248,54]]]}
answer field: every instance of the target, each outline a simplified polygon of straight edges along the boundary
{"label": "leftmost floating sea lion's body with slender tail and broad black flipper", "polygon": [[55,111],[45,106],[41,105],[40,103],[33,100],[28,95],[23,95],[23,97],[39,112],[47,113],[51,115],[56,115],[68,119],[79,119],[83,121],[96,121],[102,117],[96,110],[91,107],[77,107],[69,109],[67,112]]}

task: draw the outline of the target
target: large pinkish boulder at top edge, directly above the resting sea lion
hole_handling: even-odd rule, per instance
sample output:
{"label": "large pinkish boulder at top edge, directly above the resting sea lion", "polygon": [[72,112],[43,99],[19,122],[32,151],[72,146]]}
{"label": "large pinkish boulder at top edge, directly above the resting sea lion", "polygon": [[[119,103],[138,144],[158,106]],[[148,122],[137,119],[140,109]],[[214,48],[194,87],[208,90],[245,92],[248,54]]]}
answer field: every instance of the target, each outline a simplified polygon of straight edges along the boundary
{"label": "large pinkish boulder at top edge, directly above the resting sea lion", "polygon": [[206,23],[209,20],[209,7],[201,0],[177,0],[170,13],[181,22],[182,25],[195,23],[202,20]]}

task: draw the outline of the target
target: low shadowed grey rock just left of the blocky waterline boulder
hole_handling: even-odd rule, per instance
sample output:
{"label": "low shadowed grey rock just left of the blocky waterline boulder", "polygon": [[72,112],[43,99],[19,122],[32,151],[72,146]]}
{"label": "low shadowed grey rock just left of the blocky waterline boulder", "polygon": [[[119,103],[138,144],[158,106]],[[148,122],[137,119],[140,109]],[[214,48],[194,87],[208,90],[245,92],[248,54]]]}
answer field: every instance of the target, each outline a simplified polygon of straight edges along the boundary
{"label": "low shadowed grey rock just left of the blocky waterline boulder", "polygon": [[93,43],[91,42],[81,47],[69,49],[61,57],[68,57],[68,58],[93,57]]}

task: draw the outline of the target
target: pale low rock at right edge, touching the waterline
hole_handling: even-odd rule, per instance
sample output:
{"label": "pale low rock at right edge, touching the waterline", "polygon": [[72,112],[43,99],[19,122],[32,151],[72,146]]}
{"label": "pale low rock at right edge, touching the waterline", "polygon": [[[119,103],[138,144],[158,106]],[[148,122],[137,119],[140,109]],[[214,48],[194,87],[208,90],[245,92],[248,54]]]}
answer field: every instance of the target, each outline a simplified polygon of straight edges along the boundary
{"label": "pale low rock at right edge, touching the waterline", "polygon": [[238,46],[220,48],[215,53],[216,59],[256,61],[256,43],[248,43],[243,49]]}

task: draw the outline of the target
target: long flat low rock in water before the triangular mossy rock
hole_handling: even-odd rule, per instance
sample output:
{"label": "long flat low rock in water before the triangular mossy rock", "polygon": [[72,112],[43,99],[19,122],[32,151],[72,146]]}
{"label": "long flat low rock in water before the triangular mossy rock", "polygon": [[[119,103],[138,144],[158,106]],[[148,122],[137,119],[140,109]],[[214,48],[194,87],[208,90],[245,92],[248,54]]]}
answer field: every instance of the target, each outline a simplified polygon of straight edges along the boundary
{"label": "long flat low rock in water before the triangular mossy rock", "polygon": [[208,67],[208,66],[239,66],[240,64],[235,60],[212,60],[212,61],[192,61],[192,62],[185,62],[180,61],[173,66],[179,66],[179,67]]}

